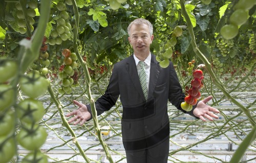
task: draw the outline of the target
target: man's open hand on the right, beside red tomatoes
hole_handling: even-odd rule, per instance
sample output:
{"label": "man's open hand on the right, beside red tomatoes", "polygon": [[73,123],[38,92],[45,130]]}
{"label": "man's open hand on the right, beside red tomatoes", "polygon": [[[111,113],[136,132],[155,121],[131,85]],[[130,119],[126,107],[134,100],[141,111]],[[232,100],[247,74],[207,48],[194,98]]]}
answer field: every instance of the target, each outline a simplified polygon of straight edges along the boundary
{"label": "man's open hand on the right, beside red tomatoes", "polygon": [[193,111],[193,114],[196,117],[199,117],[202,121],[206,121],[205,118],[207,118],[210,121],[214,121],[214,119],[212,118],[215,118],[215,119],[219,118],[215,113],[220,113],[220,111],[206,104],[211,99],[212,99],[212,96],[208,96],[204,100],[199,101],[197,104],[197,107]]}

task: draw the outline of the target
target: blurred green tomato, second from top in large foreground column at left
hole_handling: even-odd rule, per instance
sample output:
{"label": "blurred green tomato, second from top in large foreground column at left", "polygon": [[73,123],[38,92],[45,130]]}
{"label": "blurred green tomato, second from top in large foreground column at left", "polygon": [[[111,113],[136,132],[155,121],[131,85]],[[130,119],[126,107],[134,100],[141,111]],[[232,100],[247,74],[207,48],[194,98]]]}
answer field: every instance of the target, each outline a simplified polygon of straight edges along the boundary
{"label": "blurred green tomato, second from top in large foreground column at left", "polygon": [[16,112],[20,121],[32,124],[42,119],[45,108],[40,101],[29,98],[18,103]]}

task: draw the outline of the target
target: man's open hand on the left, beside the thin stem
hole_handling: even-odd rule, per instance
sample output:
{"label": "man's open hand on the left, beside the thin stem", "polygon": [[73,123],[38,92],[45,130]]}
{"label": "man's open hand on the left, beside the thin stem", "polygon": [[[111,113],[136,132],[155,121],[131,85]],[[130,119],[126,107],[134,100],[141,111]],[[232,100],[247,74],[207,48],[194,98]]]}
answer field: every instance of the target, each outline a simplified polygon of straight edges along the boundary
{"label": "man's open hand on the left, beside the thin stem", "polygon": [[84,122],[89,120],[91,118],[91,113],[88,111],[88,108],[86,105],[74,100],[73,103],[77,105],[79,108],[77,110],[69,112],[66,117],[70,117],[71,115],[75,115],[73,118],[71,118],[68,123],[74,122],[74,125],[77,125],[80,123],[80,125],[83,125]]}

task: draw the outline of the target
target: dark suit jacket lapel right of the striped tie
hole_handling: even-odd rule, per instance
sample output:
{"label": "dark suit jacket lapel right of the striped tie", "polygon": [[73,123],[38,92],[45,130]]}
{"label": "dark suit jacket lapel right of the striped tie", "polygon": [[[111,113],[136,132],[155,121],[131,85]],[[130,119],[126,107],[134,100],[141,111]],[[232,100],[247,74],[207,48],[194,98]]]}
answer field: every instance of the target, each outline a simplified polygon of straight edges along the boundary
{"label": "dark suit jacket lapel right of the striped tie", "polygon": [[156,56],[151,55],[151,67],[150,67],[150,86],[148,89],[148,97],[153,97],[153,92],[156,87],[156,83],[159,76],[159,63],[156,61]]}

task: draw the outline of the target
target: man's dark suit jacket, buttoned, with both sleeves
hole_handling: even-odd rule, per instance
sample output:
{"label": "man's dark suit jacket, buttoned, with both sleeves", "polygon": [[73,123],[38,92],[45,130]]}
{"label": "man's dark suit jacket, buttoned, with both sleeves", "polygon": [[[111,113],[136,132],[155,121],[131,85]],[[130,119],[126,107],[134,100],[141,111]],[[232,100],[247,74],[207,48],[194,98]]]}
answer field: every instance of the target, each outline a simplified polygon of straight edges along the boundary
{"label": "man's dark suit jacket, buttoned, with both sleeves", "polygon": [[[111,109],[120,95],[123,107],[122,140],[127,151],[139,151],[154,147],[169,138],[167,102],[186,112],[180,104],[182,92],[173,63],[162,68],[152,55],[148,99],[144,98],[133,56],[116,63],[105,94],[96,102],[97,114]],[[87,105],[90,113],[91,107]],[[92,118],[91,118],[92,119]]]}

